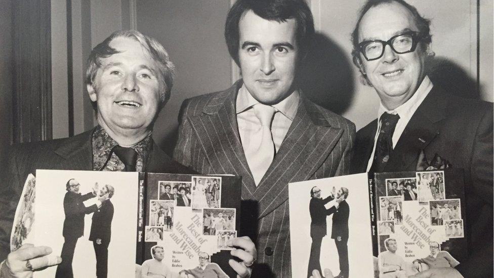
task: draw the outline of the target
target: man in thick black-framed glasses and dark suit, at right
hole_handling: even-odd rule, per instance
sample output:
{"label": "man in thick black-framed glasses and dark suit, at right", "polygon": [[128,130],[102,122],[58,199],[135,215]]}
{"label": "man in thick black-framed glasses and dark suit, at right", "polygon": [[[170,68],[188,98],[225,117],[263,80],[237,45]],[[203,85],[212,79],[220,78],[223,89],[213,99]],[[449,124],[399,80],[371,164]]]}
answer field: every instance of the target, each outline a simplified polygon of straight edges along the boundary
{"label": "man in thick black-framed glasses and dark suit, at right", "polygon": [[352,172],[463,169],[468,257],[417,277],[492,277],[492,103],[433,85],[424,70],[430,21],[403,0],[367,1],[352,42],[362,80],[381,99],[378,119],[357,133]]}

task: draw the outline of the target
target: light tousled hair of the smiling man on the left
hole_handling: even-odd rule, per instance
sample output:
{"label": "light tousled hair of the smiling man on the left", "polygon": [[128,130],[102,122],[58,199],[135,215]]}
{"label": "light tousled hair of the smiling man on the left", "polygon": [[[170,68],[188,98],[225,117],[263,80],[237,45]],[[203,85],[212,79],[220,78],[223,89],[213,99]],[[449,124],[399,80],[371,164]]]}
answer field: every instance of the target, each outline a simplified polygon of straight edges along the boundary
{"label": "light tousled hair of the smiling man on the left", "polygon": [[[118,53],[114,48],[110,47],[111,41],[117,37],[129,37],[135,39],[142,48],[151,56],[151,58],[158,64],[158,72],[160,75],[160,80],[163,84],[164,91],[160,94],[160,105],[162,108],[164,104],[170,99],[170,92],[173,87],[173,80],[175,78],[175,65],[170,61],[168,52],[163,48],[163,46],[156,41],[156,39],[144,35],[137,30],[119,30],[113,32],[108,36],[102,43],[95,46],[91,51],[88,59],[88,66],[86,69],[86,85],[91,85],[93,88],[94,78],[96,77],[96,72],[98,68],[101,67],[101,59],[108,58],[113,54]],[[95,88],[96,90],[96,88]],[[96,110],[96,103],[93,102],[93,107]]]}

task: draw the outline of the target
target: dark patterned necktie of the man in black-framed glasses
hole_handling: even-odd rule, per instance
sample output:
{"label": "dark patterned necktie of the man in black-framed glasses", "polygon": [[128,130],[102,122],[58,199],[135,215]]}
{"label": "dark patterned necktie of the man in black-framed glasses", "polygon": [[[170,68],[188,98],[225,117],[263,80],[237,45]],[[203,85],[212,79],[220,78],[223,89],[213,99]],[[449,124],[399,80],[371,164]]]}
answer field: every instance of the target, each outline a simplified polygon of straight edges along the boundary
{"label": "dark patterned necktie of the man in black-framed glasses", "polygon": [[388,163],[389,156],[393,151],[393,133],[396,128],[396,123],[400,116],[398,114],[389,114],[384,112],[381,116],[381,130],[379,131],[378,140],[376,143],[376,151],[374,152],[374,161],[370,166],[369,172],[383,172]]}

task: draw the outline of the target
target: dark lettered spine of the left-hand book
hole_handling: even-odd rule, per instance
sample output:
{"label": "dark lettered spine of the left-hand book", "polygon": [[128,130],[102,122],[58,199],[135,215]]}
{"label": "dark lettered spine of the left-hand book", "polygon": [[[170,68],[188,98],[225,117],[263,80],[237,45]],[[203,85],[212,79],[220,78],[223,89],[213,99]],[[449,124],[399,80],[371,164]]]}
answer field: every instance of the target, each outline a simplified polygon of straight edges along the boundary
{"label": "dark lettered spine of the left-hand book", "polygon": [[139,201],[137,205],[136,263],[144,261],[144,230],[146,226],[146,173],[139,173]]}

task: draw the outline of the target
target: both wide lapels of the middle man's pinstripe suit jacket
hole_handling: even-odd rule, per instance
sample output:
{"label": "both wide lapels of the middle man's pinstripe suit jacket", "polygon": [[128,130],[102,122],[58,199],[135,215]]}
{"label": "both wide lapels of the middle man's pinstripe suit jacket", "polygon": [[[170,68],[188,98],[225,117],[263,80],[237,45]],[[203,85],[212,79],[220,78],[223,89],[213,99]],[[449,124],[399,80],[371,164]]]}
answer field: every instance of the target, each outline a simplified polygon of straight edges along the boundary
{"label": "both wide lapels of the middle man's pinstripe suit jacket", "polygon": [[302,99],[280,149],[259,186],[249,169],[238,134],[235,113],[237,82],[217,94],[202,113],[189,116],[211,173],[242,176],[242,199],[259,204],[260,218],[288,198],[288,183],[309,179],[337,144],[343,130],[331,127],[319,109]]}

